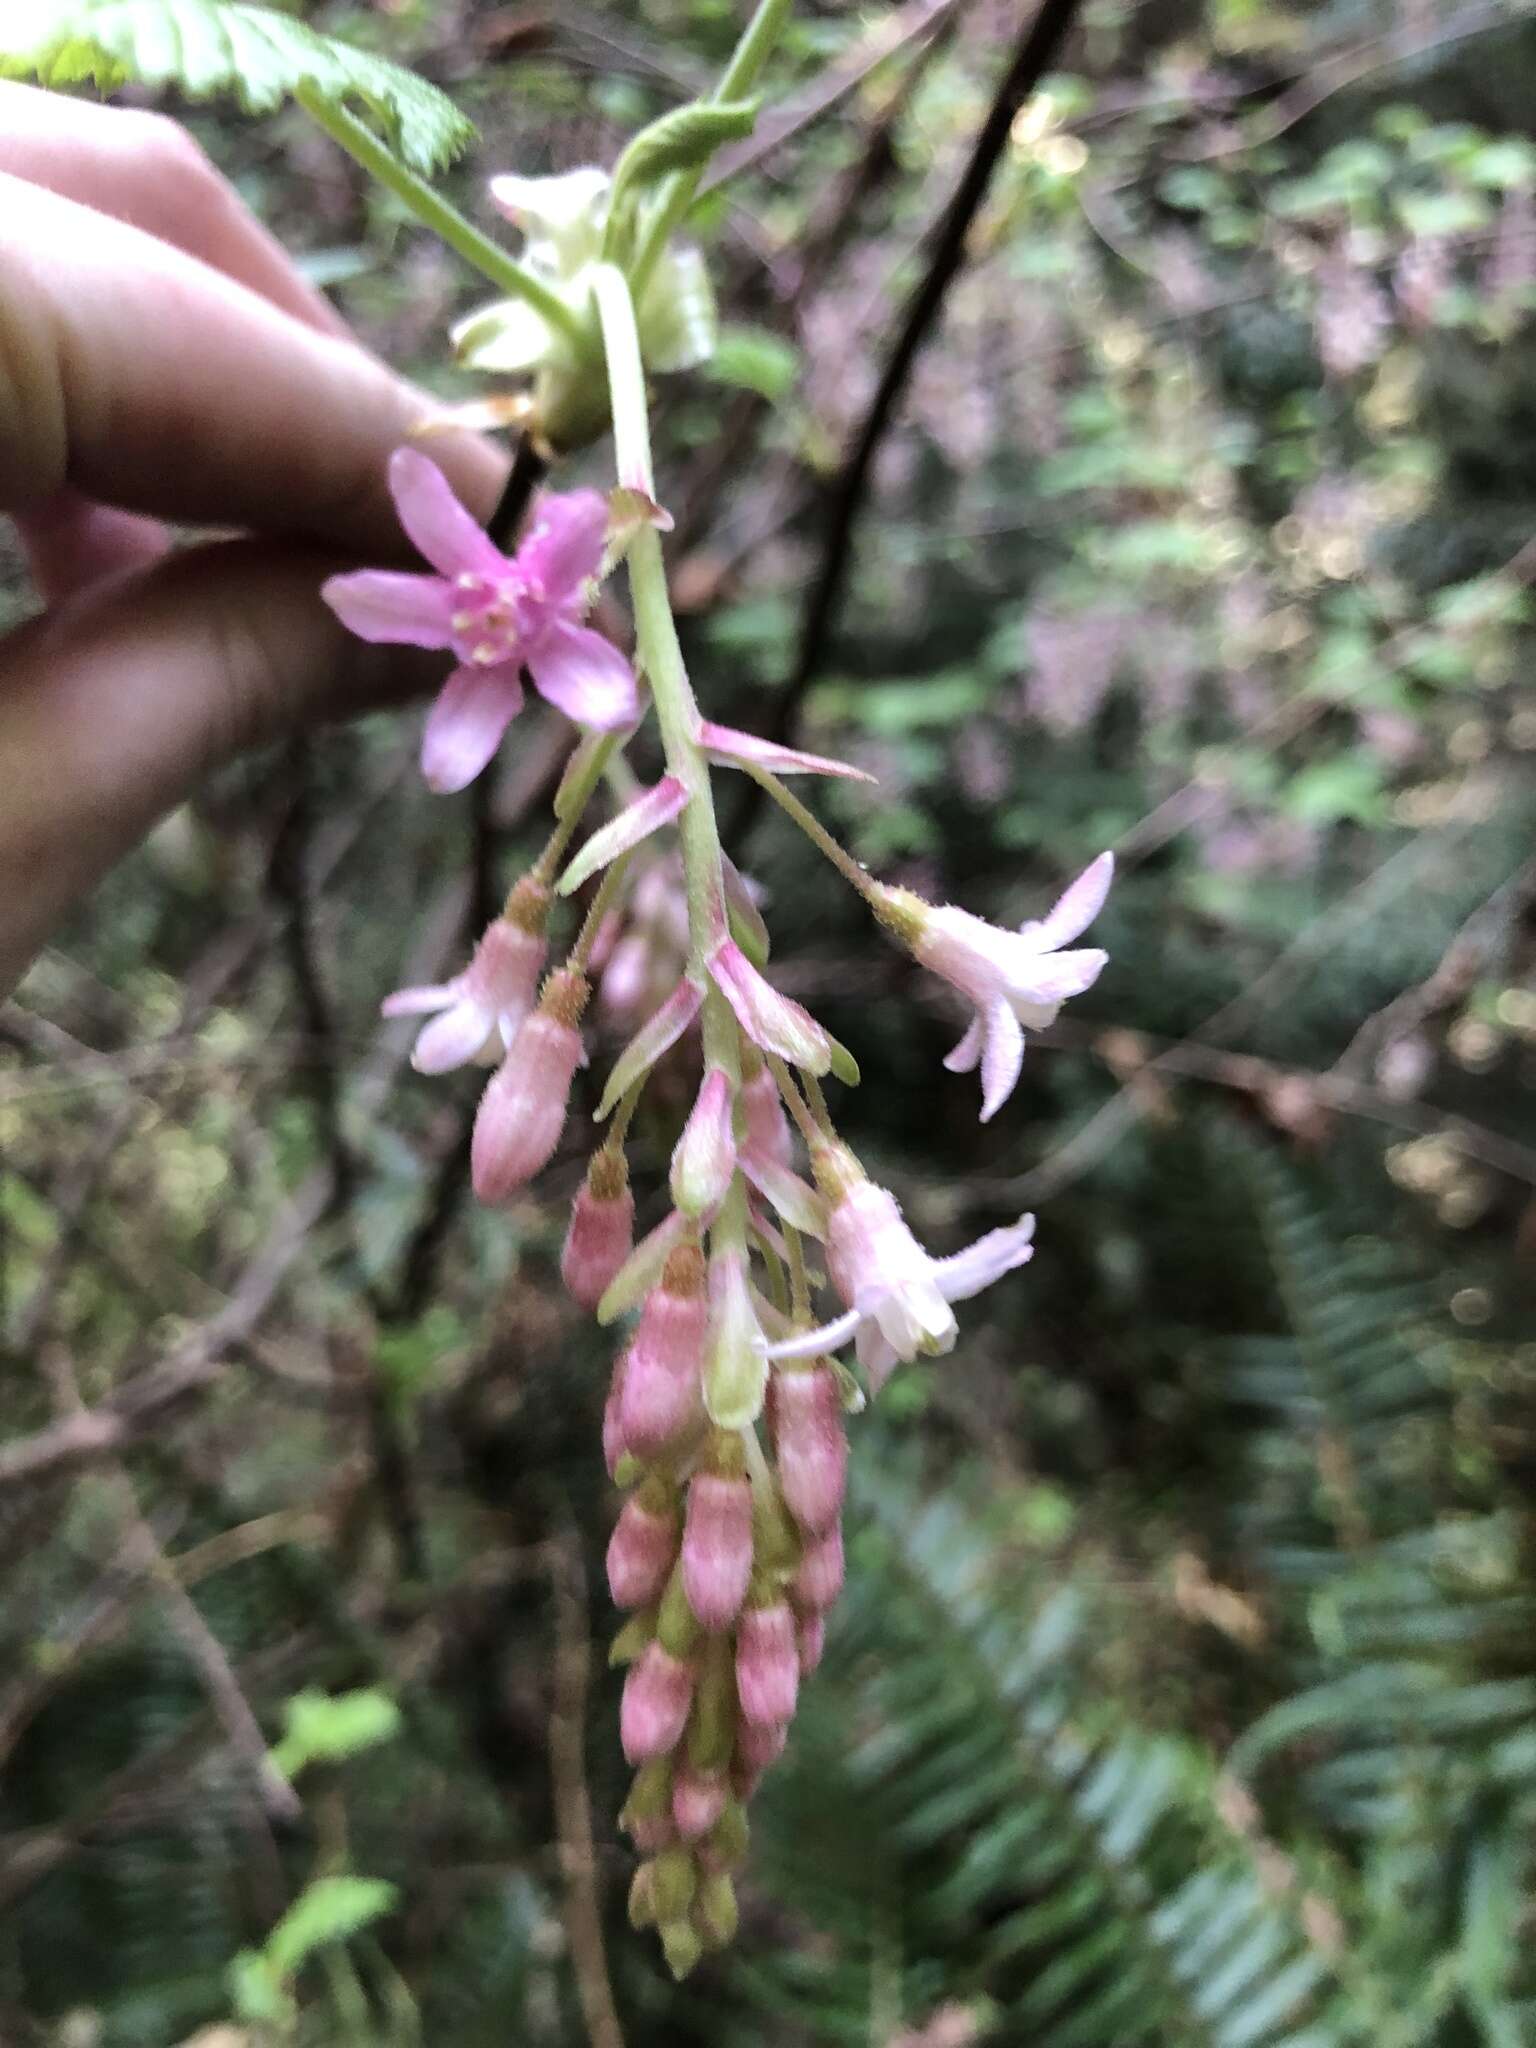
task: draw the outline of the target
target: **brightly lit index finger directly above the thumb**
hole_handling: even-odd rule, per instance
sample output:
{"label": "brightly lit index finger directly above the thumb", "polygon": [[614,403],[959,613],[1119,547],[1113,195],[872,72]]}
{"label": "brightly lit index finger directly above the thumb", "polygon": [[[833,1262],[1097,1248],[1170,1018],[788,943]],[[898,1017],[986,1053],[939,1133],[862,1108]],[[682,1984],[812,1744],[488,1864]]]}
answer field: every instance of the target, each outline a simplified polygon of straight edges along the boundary
{"label": "brightly lit index finger directly above the thumb", "polygon": [[[354,342],[0,174],[0,510],[70,483],[184,524],[399,555],[385,465],[428,410]],[[487,516],[500,457],[467,436],[434,457]]]}

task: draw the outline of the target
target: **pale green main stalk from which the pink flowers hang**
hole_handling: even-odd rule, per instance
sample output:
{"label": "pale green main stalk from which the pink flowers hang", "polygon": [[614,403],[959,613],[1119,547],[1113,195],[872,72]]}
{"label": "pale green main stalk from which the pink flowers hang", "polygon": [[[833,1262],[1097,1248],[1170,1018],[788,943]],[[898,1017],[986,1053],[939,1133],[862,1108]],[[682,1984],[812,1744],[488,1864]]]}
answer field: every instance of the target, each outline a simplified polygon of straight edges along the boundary
{"label": "pale green main stalk from which the pink flowers hang", "polygon": [[[612,264],[594,270],[594,297],[602,322],[602,346],[608,358],[608,395],[612,403],[614,453],[618,481],[655,498],[651,475],[651,430],[645,410],[645,369],[635,330],[635,301],[629,285]],[[635,643],[662,727],[662,752],[668,774],[688,791],[688,805],[678,821],[682,838],[682,872],[688,887],[688,969],[707,987],[705,995],[705,1059],[739,1081],[739,1047],[735,1018],[725,997],[709,979],[709,956],[727,936],[725,872],[721,864],[721,831],[715,819],[715,793],[709,762],[694,737],[698,705],[688,682],[688,670],[678,645],[668,598],[668,573],[662,559],[662,537],[655,526],[641,526],[629,547],[629,594],[635,606]]]}

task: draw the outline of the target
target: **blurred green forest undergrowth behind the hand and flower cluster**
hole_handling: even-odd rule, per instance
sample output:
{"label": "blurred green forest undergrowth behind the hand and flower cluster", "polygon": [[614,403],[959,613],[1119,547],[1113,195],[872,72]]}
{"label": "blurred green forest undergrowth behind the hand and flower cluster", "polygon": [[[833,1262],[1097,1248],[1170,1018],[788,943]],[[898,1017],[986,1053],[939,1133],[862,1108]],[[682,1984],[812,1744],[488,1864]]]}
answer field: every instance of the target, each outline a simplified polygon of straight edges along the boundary
{"label": "blurred green forest undergrowth behind the hand and flower cluster", "polygon": [[[311,14],[475,117],[471,209],[492,168],[610,160],[735,29]],[[659,469],[715,717],[772,717],[1016,27],[975,0],[705,203],[727,336],[668,387]],[[776,84],[868,33],[801,6]],[[338,1137],[348,1171],[133,1444],[131,1503],[90,1470],[0,1491],[0,2040],[592,2038],[571,1714],[635,2048],[1536,2038],[1534,86],[1518,6],[1098,0],[1016,125],[801,729],[881,776],[821,799],[862,860],[999,920],[1116,844],[1112,965],[983,1130],[934,989],[780,821],[735,848],[920,1235],[1038,1206],[1040,1251],[854,1427],[827,1661],[739,1942],[684,1989],[623,1921],[608,1339],[555,1278],[582,1161],[473,1214],[473,1075],[401,1075],[373,1026],[475,926],[471,862],[500,889],[530,858],[559,733],[526,715],[479,805],[416,788],[397,721],[250,764],[39,963],[0,1016],[16,1436],[59,1358],[102,1401],[184,1343]],[[449,389],[457,264],[301,115],[186,117]],[[301,1819],[223,1743],[125,1513]]]}

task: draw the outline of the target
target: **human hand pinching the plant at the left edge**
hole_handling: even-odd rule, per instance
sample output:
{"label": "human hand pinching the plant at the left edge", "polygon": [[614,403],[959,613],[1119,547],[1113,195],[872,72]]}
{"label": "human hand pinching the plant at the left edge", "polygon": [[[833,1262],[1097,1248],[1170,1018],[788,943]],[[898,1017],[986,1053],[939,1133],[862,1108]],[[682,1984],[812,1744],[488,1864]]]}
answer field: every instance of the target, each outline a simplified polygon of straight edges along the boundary
{"label": "human hand pinching the plant at the left edge", "polygon": [[[440,680],[317,594],[408,553],[424,410],[180,127],[0,84],[0,512],[47,606],[0,641],[0,995],[213,766]],[[487,516],[500,457],[432,453]]]}

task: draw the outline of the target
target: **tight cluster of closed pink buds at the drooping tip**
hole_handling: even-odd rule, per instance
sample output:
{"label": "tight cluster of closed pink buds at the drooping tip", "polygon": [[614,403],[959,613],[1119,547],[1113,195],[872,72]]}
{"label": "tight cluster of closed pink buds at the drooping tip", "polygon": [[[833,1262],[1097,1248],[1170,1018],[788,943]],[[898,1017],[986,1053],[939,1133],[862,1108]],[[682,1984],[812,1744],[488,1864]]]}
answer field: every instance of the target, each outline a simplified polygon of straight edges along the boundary
{"label": "tight cluster of closed pink buds at the drooping tip", "polygon": [[678,1972],[735,1927],[745,1804],[784,1751],[844,1569],[836,1372],[817,1362],[772,1374],[772,1460],[748,1477],[739,1434],[702,1411],[707,1311],[702,1257],[680,1245],[614,1374],[608,1432],[629,1487],[608,1587],[631,1610],[614,1640],[635,1765],[623,1825],[643,1858],[631,1919],[657,1927]]}

